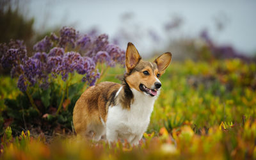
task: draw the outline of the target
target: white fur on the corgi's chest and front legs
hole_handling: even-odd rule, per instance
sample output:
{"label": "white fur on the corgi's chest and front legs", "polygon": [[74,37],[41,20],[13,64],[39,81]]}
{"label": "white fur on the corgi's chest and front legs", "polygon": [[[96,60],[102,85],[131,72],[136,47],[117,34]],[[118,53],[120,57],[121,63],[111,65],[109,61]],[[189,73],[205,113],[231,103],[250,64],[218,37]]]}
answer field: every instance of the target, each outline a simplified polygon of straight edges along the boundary
{"label": "white fur on the corgi's chest and front legs", "polygon": [[117,105],[110,107],[108,110],[106,121],[108,141],[116,141],[120,138],[136,145],[143,136],[143,132],[147,131],[150,115],[157,97],[150,97],[133,88],[131,90],[134,95],[134,101],[130,109],[124,109],[122,106]]}

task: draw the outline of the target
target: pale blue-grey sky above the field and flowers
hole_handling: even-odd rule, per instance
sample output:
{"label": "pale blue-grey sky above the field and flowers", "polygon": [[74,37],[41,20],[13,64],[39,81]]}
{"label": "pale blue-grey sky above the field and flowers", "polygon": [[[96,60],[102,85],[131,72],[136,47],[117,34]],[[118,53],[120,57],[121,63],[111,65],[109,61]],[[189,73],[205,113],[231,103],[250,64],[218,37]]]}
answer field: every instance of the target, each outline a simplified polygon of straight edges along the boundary
{"label": "pale blue-grey sky above the field and flowers", "polygon": [[[256,51],[256,1],[28,1],[28,17],[35,17],[39,31],[54,26],[76,26],[79,31],[93,27],[114,37],[125,26],[121,15],[132,13],[129,28],[143,31],[153,29],[164,37],[164,23],[182,17],[183,24],[173,36],[198,36],[207,28],[218,44],[231,44],[237,50],[252,54]],[[217,31],[214,19],[225,24]],[[135,24],[135,25],[134,25]],[[133,25],[133,26],[132,26]],[[128,28],[128,31],[129,31]],[[139,30],[140,29],[140,30]],[[136,41],[136,40],[135,40]],[[139,41],[139,40],[138,40]],[[144,43],[145,42],[145,43]],[[137,48],[147,52],[156,47],[152,42],[138,42]],[[125,46],[124,44],[123,46]],[[139,50],[139,51],[140,51]]]}

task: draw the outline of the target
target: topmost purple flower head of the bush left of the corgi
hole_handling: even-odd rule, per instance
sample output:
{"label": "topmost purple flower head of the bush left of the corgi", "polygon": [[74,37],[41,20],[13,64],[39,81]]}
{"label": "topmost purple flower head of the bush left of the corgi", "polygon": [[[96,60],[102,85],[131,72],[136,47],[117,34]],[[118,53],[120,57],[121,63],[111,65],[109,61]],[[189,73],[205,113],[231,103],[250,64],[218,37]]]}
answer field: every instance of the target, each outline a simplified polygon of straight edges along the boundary
{"label": "topmost purple flower head of the bush left of the corgi", "polygon": [[74,49],[76,47],[76,40],[79,34],[74,28],[63,27],[60,30],[60,47],[67,47],[68,44]]}

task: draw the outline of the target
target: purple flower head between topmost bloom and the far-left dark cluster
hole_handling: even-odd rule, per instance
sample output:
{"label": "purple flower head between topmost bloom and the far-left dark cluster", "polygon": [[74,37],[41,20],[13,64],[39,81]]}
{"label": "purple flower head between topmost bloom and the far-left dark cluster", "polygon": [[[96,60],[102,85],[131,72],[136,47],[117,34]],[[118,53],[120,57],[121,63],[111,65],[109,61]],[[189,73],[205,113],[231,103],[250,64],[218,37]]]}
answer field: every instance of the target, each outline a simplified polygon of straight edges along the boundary
{"label": "purple flower head between topmost bloom and the far-left dark cluster", "polygon": [[51,42],[51,38],[49,38],[49,36],[45,36],[44,39],[34,45],[33,49],[36,52],[48,52],[52,45],[53,43]]}

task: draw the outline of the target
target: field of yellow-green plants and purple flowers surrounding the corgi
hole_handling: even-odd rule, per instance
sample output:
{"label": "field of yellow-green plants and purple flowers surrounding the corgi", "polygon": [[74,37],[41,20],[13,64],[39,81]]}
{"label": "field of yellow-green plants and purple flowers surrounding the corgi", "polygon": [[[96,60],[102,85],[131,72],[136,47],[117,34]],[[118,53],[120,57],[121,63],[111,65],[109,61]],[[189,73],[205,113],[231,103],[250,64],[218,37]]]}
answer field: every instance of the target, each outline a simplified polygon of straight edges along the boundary
{"label": "field of yellow-green plants and purple flowers surrounding the corgi", "polygon": [[256,159],[256,64],[213,47],[170,64],[148,130],[131,146],[84,140],[72,125],[81,93],[125,72],[125,51],[107,35],[62,28],[32,56],[20,40],[1,44],[10,75],[0,76],[0,159]]}

